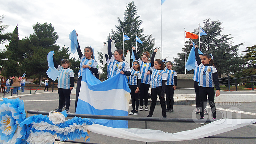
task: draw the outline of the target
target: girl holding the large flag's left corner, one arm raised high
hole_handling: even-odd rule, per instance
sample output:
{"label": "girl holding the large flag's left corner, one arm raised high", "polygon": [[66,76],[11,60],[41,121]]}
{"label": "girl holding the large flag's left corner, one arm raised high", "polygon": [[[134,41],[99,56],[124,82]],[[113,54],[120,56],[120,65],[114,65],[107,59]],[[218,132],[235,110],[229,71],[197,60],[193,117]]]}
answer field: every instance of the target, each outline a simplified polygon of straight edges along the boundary
{"label": "girl holding the large flag's left corner, one arm raised high", "polygon": [[[78,36],[78,34],[76,33],[76,36]],[[77,52],[80,58],[80,69],[78,72],[78,79],[77,79],[77,84],[76,84],[76,101],[75,101],[75,109],[77,106],[77,101],[78,101],[78,96],[79,96],[79,92],[80,92],[80,88],[81,88],[81,81],[82,81],[82,74],[83,74],[83,69],[84,68],[89,68],[90,71],[92,72],[92,74],[97,74],[98,73],[98,63],[97,61],[94,59],[94,54],[93,54],[93,50],[92,47],[87,46],[84,48],[84,55],[80,50],[80,45],[78,43],[78,39],[77,39]],[[67,104],[66,104],[67,105]]]}

